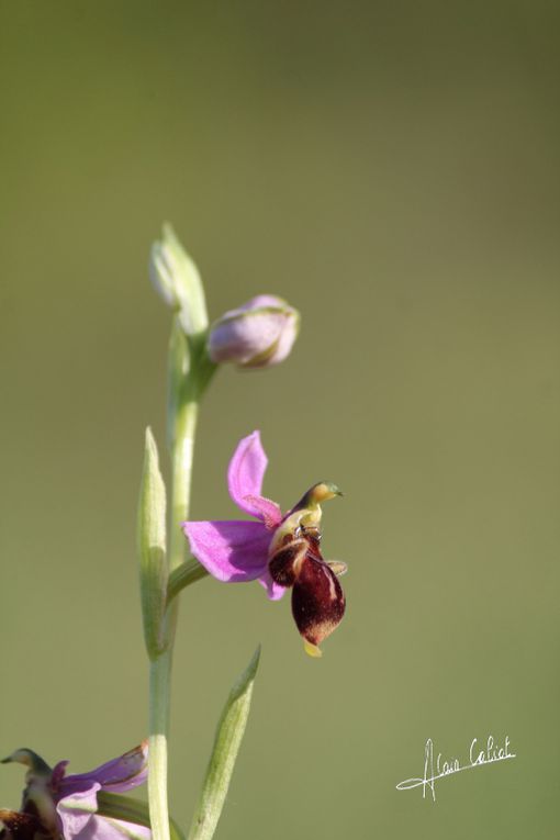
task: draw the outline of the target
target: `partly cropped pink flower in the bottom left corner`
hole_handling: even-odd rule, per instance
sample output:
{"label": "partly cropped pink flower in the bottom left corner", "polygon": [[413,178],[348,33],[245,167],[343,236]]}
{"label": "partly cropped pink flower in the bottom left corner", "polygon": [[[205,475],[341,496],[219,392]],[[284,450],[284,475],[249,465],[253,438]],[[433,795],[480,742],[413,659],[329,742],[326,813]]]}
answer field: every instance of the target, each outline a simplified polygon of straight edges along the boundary
{"label": "partly cropped pink flower in the bottom left corner", "polygon": [[147,777],[147,741],[89,773],[66,775],[67,761],[51,769],[32,750],[2,763],[29,768],[20,811],[0,810],[4,840],[149,840],[149,828],[99,814],[98,795],[125,793]]}

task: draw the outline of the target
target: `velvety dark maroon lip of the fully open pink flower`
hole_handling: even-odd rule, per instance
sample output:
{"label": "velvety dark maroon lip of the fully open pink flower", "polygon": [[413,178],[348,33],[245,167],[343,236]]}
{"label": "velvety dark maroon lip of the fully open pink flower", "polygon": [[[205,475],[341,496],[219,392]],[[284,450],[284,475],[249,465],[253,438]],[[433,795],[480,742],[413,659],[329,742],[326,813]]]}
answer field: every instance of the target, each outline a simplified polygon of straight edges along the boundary
{"label": "velvety dark maroon lip of the fully open pink flower", "polygon": [[281,586],[293,586],[292,614],[300,634],[318,646],[343,620],[346,601],[338,579],[325,562],[316,529],[288,535],[272,555],[269,570]]}

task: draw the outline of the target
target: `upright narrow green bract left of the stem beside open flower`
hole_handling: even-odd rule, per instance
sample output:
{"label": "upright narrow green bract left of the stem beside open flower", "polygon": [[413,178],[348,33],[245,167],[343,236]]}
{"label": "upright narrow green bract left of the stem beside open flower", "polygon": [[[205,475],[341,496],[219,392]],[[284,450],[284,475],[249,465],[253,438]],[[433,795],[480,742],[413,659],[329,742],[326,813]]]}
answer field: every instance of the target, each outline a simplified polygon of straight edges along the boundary
{"label": "upright narrow green bract left of the stem beside open flower", "polygon": [[166,650],[165,613],[168,564],[166,557],[166,489],[157,446],[146,429],[144,470],[138,504],[138,553],[144,639],[150,659]]}

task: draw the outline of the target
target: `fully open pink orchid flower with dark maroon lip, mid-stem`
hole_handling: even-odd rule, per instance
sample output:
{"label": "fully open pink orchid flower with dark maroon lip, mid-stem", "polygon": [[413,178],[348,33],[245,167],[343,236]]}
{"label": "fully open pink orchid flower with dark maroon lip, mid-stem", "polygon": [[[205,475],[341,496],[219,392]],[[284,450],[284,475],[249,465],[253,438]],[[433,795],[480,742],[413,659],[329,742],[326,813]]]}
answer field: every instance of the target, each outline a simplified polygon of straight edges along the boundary
{"label": "fully open pink orchid flower with dark maroon lip, mid-stem", "polygon": [[340,491],[327,482],[314,484],[283,516],[276,502],[261,495],[267,463],[254,432],[239,441],[227,471],[232,500],[256,522],[184,522],[182,529],[193,556],[217,580],[258,580],[272,601],[292,587],[292,614],[305,650],[318,657],[318,646],[345,612],[337,575],[346,565],[323,559],[318,528],[321,503]]}

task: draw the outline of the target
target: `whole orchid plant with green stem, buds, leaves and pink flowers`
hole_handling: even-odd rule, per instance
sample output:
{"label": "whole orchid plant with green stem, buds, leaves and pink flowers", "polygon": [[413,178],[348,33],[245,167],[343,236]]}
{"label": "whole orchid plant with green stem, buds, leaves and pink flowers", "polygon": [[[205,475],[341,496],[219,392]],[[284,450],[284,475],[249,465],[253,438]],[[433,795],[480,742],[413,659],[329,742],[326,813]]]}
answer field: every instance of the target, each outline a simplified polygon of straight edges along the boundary
{"label": "whole orchid plant with green stem, buds, leaves and pink flowers", "polygon": [[[281,298],[261,294],[209,325],[199,271],[169,225],[153,246],[149,275],[173,311],[168,366],[169,538],[166,488],[149,429],[138,507],[141,595],[150,663],[149,738],[80,775],[66,775],[66,761],[52,769],[32,750],[16,750],[4,763],[24,764],[26,784],[20,810],[0,809],[3,840],[183,840],[168,814],[167,737],[177,596],[188,585],[206,574],[226,583],[257,580],[271,601],[290,589],[293,618],[312,657],[321,656],[320,645],[344,616],[338,576],[346,564],[324,560],[321,550],[321,505],[340,491],[318,482],[282,514],[262,495],[268,459],[258,432],[238,443],[227,470],[229,496],[251,518],[188,518],[194,433],[204,391],[223,362],[262,369],[285,359],[298,335],[299,313]],[[186,558],[187,545],[192,559]],[[259,651],[225,704],[189,840],[210,840],[217,825],[247,723]],[[146,779],[149,807],[124,795]]]}

